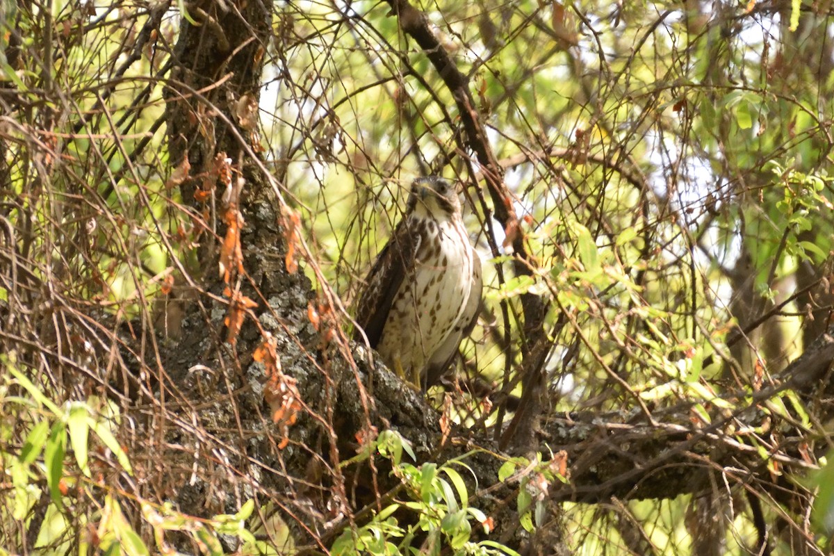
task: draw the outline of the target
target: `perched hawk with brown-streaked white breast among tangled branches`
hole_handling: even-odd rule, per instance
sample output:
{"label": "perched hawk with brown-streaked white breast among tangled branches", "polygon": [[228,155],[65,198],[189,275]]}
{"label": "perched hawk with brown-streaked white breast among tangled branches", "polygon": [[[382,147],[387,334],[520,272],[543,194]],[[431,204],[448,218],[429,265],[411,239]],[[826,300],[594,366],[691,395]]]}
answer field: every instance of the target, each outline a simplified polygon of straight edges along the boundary
{"label": "perched hawk with brown-streaked white breast among tangled branches", "polygon": [[[436,176],[419,178],[370,270],[356,323],[389,368],[429,388],[475,327],[482,288],[455,188]],[[354,337],[361,341],[362,332]]]}

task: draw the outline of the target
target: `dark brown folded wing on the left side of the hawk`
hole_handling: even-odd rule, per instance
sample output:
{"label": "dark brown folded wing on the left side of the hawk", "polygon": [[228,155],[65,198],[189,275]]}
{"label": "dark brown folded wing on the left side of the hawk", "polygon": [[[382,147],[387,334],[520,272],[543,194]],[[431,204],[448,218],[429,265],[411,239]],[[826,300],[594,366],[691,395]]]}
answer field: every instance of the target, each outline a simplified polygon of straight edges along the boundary
{"label": "dark brown folded wing on the left side of the hawk", "polygon": [[[371,348],[379,345],[394,297],[406,274],[414,268],[414,258],[422,238],[412,232],[408,221],[409,218],[399,221],[394,236],[377,255],[368,275],[368,283],[359,298],[356,323],[364,330]],[[354,330],[354,340],[362,340],[359,330]]]}

